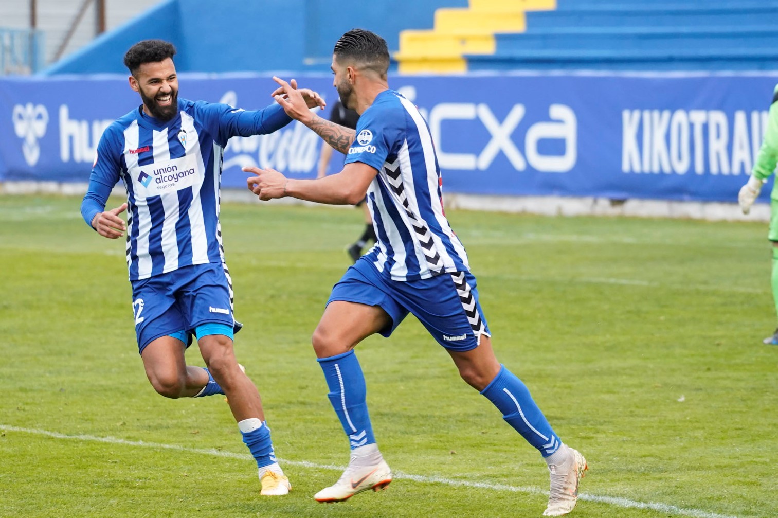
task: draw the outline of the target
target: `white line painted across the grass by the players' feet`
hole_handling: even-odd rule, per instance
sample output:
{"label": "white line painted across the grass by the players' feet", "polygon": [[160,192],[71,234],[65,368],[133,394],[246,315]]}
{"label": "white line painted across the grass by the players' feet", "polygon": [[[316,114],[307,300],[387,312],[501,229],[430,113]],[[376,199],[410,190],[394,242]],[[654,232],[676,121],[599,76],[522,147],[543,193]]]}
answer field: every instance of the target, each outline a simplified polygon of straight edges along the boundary
{"label": "white line painted across the grass by the players' feet", "polygon": [[[127,446],[144,446],[146,448],[158,448],[160,450],[176,450],[185,453],[202,453],[204,455],[215,455],[216,457],[228,457],[231,459],[243,459],[253,460],[248,453],[233,453],[230,451],[222,450],[199,450],[196,448],[184,448],[184,446],[176,446],[173,444],[161,444],[161,443],[146,443],[145,441],[128,441],[127,439],[118,439],[117,437],[98,437],[78,435],[72,436],[64,433],[49,432],[47,430],[37,430],[29,428],[19,428],[18,426],[0,425],[0,430],[6,430],[9,432],[23,432],[34,433],[39,436],[53,437],[54,439],[75,439],[79,441],[94,441],[96,443],[109,443],[109,444],[126,444]],[[292,464],[293,466],[303,467],[315,467],[318,469],[328,469],[335,471],[345,470],[345,466],[334,466],[332,464],[316,464],[314,462],[308,462],[307,460],[284,460],[279,458],[279,462],[286,464]],[[480,489],[492,489],[494,491],[510,491],[519,493],[529,493],[531,495],[546,495],[547,492],[543,489],[533,488],[530,486],[516,486],[505,484],[489,484],[486,482],[472,482],[465,480],[454,480],[452,478],[443,477],[430,477],[427,475],[415,475],[402,473],[401,471],[392,471],[395,479],[411,480],[415,482],[433,482],[437,484],[464,486],[467,488],[480,488]],[[615,496],[601,496],[591,495],[589,493],[580,493],[578,498],[587,502],[606,503],[612,506],[622,507],[625,509],[650,509],[657,511],[658,513],[675,514],[679,516],[691,516],[692,518],[738,518],[737,516],[727,516],[723,514],[708,513],[702,509],[684,509],[678,506],[671,506],[661,502],[635,502],[634,500],[623,499]]]}

